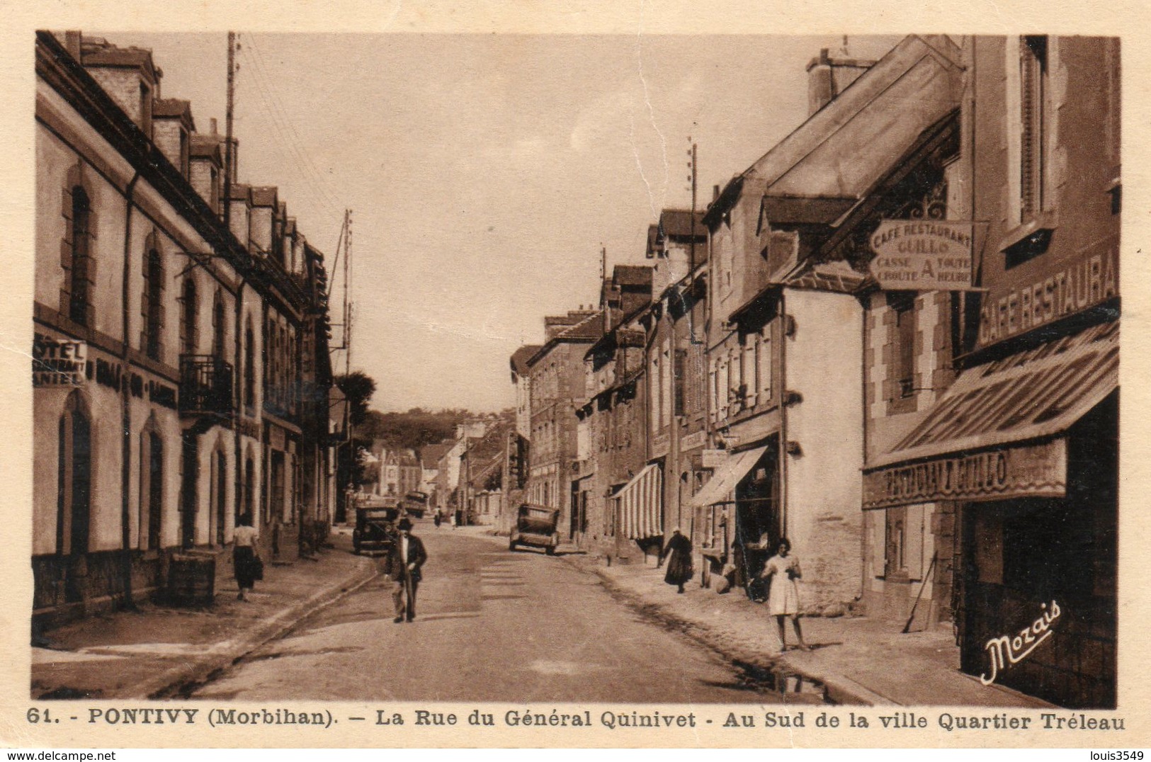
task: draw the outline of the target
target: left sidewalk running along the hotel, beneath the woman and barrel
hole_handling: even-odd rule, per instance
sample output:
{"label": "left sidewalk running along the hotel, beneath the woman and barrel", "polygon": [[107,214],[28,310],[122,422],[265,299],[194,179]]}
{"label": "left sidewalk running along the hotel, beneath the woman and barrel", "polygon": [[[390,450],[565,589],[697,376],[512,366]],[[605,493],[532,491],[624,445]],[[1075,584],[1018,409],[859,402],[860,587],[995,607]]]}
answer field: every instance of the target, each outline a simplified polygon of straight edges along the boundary
{"label": "left sidewalk running along the hotel, beneath the woman and barrel", "polygon": [[318,561],[268,564],[247,601],[236,600],[231,564],[223,563],[209,609],[144,604],[45,632],[51,647],[32,649],[32,698],[163,698],[204,680],[375,576],[371,558],[334,540]]}

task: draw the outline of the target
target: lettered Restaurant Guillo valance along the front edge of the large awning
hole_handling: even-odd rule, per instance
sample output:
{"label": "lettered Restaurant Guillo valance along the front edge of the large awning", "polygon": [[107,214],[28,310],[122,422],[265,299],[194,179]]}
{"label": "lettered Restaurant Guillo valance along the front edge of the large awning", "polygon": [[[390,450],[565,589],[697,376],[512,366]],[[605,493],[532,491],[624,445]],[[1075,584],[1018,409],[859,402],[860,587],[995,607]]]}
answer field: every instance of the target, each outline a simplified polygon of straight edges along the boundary
{"label": "lettered Restaurant Guillo valance along the front edge of the large awning", "polygon": [[1067,441],[1061,439],[894,465],[863,474],[864,509],[939,500],[989,501],[1066,494]]}

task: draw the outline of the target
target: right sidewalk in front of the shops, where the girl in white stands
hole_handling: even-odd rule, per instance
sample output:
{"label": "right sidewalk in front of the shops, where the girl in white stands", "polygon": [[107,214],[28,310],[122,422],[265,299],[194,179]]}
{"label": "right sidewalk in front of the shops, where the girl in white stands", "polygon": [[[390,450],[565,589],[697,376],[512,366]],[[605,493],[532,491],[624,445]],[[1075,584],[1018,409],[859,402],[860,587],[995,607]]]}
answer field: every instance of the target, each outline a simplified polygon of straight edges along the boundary
{"label": "right sidewalk in front of the shops, where the girl in white stands", "polygon": [[[810,651],[779,653],[776,622],[767,608],[735,589],[719,595],[687,585],[684,595],[663,581],[663,569],[607,566],[592,556],[569,563],[599,574],[618,597],[647,616],[680,630],[734,662],[775,673],[793,673],[824,686],[837,703],[870,706],[978,706],[1050,708],[1052,704],[959,671],[959,648],[950,628],[902,634],[895,623],[868,617],[806,617]],[[788,638],[794,637],[787,623]]]}

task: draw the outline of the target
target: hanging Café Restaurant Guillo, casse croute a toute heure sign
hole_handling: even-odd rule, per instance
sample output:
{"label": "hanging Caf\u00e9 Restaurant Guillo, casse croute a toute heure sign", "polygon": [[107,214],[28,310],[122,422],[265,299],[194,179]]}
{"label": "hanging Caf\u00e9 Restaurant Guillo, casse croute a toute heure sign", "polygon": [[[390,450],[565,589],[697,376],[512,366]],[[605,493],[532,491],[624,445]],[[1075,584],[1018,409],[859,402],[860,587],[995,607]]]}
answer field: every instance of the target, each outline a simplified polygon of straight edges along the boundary
{"label": "hanging Caf\u00e9 Restaurant Guillo, casse croute a toute heure sign", "polygon": [[871,234],[871,275],[879,288],[971,289],[970,222],[883,220]]}

